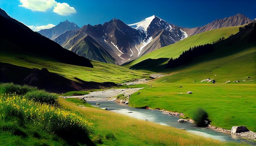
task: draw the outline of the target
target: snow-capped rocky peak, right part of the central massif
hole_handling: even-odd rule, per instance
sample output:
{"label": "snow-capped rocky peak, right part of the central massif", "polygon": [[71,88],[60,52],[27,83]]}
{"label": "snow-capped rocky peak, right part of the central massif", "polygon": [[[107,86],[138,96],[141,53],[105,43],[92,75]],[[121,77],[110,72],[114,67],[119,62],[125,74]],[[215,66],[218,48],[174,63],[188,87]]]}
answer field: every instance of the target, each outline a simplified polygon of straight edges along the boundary
{"label": "snow-capped rocky peak, right part of the central massif", "polygon": [[144,45],[140,48],[140,56],[155,51],[163,46],[183,40],[188,36],[182,28],[169,24],[155,15],[148,17],[141,22],[128,24],[128,26],[146,34],[146,38],[144,39],[144,42],[142,42]]}

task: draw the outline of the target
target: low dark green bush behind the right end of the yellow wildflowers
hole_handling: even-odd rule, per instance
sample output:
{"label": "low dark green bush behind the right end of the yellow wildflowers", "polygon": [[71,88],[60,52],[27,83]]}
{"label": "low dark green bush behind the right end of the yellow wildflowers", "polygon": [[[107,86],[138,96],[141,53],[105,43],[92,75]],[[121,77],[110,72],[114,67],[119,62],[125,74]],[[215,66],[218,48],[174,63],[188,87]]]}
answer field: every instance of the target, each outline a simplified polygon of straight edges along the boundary
{"label": "low dark green bush behind the right end of the yellow wildflowers", "polygon": [[34,100],[35,102],[58,105],[58,95],[43,90],[29,91],[25,94],[25,98]]}

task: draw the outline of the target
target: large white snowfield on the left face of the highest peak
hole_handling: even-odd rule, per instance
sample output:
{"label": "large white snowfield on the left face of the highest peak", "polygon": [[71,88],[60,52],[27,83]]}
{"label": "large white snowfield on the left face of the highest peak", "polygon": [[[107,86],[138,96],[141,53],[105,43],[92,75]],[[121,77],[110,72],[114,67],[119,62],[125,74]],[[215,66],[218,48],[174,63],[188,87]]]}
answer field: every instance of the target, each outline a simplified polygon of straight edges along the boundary
{"label": "large white snowfield on the left face of the highest peak", "polygon": [[129,27],[133,28],[133,29],[139,29],[139,30],[143,30],[143,31],[147,31],[148,26],[150,25],[150,23],[153,21],[153,19],[155,19],[156,16],[150,16],[140,22],[134,23],[134,24],[128,24]]}

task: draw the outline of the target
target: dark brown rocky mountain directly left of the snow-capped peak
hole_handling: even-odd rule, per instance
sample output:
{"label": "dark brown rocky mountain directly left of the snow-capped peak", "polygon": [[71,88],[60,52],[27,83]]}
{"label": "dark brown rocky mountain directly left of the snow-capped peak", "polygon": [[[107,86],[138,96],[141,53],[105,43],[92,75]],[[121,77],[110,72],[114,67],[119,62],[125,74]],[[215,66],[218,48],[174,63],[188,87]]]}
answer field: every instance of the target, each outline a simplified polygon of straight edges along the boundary
{"label": "dark brown rocky mountain directly left of the snow-capped peak", "polygon": [[114,18],[103,25],[88,24],[79,30],[67,31],[54,41],[86,58],[121,64],[138,55],[136,45],[145,37],[144,33]]}

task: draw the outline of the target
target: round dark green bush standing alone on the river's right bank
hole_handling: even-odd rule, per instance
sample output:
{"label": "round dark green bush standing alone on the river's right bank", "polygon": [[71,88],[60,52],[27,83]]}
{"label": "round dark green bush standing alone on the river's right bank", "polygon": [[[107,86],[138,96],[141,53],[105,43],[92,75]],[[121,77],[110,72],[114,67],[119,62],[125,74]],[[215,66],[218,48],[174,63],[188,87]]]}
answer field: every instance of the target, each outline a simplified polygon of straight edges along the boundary
{"label": "round dark green bush standing alone on the river's right bank", "polygon": [[208,113],[203,108],[198,108],[192,114],[192,119],[198,127],[204,127],[209,124]]}

